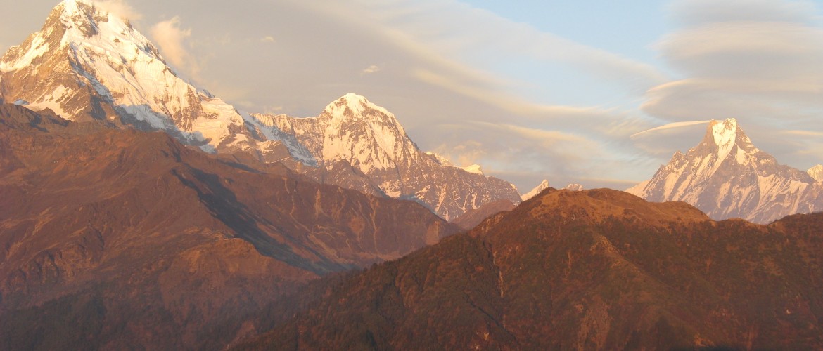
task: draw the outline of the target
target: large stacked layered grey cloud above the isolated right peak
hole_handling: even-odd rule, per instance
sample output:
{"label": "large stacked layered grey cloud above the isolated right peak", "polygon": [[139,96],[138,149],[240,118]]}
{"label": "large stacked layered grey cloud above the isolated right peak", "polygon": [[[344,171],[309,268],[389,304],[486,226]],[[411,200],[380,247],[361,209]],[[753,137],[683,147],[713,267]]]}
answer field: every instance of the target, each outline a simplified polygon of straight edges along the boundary
{"label": "large stacked layered grey cloud above the isolated right peak", "polygon": [[682,27],[653,48],[681,79],[647,91],[641,109],[664,126],[635,134],[635,144],[668,150],[667,129],[691,134],[695,119],[737,118],[781,163],[807,164],[802,155],[820,154],[812,138],[780,132],[823,133],[823,28],[813,2],[681,0],[671,8]]}

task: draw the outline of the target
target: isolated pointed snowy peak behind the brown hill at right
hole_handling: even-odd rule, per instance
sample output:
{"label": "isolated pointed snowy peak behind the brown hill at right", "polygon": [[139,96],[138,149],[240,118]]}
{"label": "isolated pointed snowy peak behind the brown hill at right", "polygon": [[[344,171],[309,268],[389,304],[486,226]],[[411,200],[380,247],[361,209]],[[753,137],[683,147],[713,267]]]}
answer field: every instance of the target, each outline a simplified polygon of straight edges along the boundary
{"label": "isolated pointed snowy peak behind the brown hill at right", "polygon": [[627,192],[648,201],[686,201],[714,219],[756,223],[823,210],[823,187],[757,149],[733,118],[711,122],[699,145],[686,155],[678,151]]}

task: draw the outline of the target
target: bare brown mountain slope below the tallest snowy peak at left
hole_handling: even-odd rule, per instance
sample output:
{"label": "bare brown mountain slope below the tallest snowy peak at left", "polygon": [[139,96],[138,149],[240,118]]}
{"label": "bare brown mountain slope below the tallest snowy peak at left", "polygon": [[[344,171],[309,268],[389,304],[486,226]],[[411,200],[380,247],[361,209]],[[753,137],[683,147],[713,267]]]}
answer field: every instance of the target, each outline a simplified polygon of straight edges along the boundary
{"label": "bare brown mountain slope below the tallest snowy peak at left", "polygon": [[101,124],[0,106],[0,349],[221,349],[300,284],[453,233],[412,201]]}

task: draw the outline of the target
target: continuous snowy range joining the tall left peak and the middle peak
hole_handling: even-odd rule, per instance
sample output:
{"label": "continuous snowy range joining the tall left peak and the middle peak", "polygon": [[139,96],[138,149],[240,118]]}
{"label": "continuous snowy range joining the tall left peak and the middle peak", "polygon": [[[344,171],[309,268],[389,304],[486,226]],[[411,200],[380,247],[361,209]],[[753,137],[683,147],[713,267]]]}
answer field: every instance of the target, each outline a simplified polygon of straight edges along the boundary
{"label": "continuous snowy range joining the tall left peak and the middle peak", "polygon": [[359,95],[316,118],[239,113],[180,78],[128,21],[87,0],[61,2],[39,32],[9,49],[0,99],[72,121],[167,132],[208,152],[289,159],[316,181],[418,201],[444,219],[520,198],[509,182],[422,152],[392,113]]}

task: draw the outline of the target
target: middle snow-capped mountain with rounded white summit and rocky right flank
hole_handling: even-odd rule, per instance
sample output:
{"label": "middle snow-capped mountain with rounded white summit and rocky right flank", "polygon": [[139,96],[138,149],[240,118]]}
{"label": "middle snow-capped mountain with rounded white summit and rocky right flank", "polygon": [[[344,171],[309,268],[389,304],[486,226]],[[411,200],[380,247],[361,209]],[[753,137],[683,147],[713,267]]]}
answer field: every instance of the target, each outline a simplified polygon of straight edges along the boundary
{"label": "middle snow-capped mountain with rounded white summit and rocky right flank", "polygon": [[509,182],[422,152],[392,113],[360,95],[342,96],[315,118],[253,117],[305,147],[322,169],[309,170],[319,182],[412,199],[444,219],[492,201],[519,202]]}

